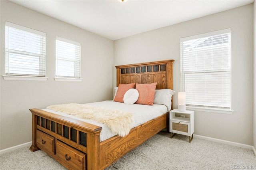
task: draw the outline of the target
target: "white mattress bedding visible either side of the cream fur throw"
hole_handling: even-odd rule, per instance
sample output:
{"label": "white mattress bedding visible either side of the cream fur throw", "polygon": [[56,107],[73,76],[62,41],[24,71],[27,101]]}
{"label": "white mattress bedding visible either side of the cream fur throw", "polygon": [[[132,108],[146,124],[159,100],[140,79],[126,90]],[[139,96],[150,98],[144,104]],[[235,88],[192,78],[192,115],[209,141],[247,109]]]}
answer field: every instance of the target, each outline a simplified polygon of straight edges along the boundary
{"label": "white mattress bedding visible either side of the cream fur throw", "polygon": [[[124,103],[115,102],[115,101],[101,101],[101,102],[94,102],[94,103],[86,103],[88,105],[92,106],[99,106],[99,107],[105,107],[109,109],[119,109],[119,110],[125,110],[134,113],[134,127],[141,125],[147,121],[150,121],[152,119],[155,119],[156,117],[159,117],[163,115],[164,113],[168,112],[168,109],[165,105],[156,105],[148,106],[148,105],[126,105]],[[84,121],[86,123],[90,123],[93,125],[97,125],[102,127],[102,130],[100,132],[100,142],[103,140],[106,140],[108,138],[111,138],[114,136],[114,134],[111,132],[110,128],[108,128],[106,125],[102,123],[98,123],[96,121],[92,121],[90,119],[80,119],[78,117],[75,117],[73,115],[67,115],[64,113],[56,112],[50,109],[42,109],[44,111],[48,111],[51,113],[55,113],[58,115],[62,115],[65,117],[71,117],[73,119],[77,119],[80,121]]]}

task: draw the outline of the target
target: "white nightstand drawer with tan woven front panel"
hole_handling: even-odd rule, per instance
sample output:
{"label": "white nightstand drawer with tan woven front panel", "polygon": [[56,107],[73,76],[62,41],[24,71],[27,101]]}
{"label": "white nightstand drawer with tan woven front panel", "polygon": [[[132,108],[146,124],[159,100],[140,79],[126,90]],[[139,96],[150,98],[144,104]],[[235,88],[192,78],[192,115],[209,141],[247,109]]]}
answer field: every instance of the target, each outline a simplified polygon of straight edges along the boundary
{"label": "white nightstand drawer with tan woven front panel", "polygon": [[170,132],[190,136],[190,123],[181,121],[170,121]]}

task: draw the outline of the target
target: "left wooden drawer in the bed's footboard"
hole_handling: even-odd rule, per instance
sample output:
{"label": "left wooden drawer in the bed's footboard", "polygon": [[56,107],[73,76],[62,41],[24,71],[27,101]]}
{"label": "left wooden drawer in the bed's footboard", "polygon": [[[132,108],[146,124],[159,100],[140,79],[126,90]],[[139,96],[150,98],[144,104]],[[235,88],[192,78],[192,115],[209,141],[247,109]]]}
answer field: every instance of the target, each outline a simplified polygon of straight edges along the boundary
{"label": "left wooden drawer in the bed's footboard", "polygon": [[55,154],[55,138],[40,130],[36,130],[36,146],[51,156]]}

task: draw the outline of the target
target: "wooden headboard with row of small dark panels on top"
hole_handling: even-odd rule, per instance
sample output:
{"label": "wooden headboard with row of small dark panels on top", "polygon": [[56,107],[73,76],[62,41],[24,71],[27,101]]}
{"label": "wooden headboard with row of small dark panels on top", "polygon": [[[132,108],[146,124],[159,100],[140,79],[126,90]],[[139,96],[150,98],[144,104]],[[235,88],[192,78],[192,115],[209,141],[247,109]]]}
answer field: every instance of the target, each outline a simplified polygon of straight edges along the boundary
{"label": "wooden headboard with row of small dark panels on top", "polygon": [[116,86],[129,83],[154,83],[156,89],[173,89],[174,60],[163,60],[146,63],[116,66]]}

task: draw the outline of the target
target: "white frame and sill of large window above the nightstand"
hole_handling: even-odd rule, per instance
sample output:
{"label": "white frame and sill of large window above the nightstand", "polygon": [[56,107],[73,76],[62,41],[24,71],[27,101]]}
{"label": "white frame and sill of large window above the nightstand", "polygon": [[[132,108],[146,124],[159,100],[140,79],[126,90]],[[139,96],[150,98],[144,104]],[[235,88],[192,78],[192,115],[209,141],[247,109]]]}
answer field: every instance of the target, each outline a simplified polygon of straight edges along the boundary
{"label": "white frame and sill of large window above the nightstand", "polygon": [[[185,37],[185,38],[180,38],[180,91],[184,91],[185,92],[185,73],[214,73],[214,72],[218,72],[218,71],[225,71],[225,70],[221,70],[221,69],[216,69],[216,70],[207,70],[207,69],[203,69],[201,71],[184,71],[184,63],[183,63],[183,46],[182,43],[189,41],[189,40],[194,40],[194,39],[200,39],[200,38],[207,38],[207,37],[213,37],[213,36],[218,36],[221,34],[230,34],[230,46],[229,46],[229,50],[230,50],[230,69],[226,70],[230,72],[230,108],[222,108],[222,107],[212,107],[212,106],[203,106],[203,105],[186,105],[187,109],[190,110],[194,110],[194,111],[204,111],[204,112],[212,112],[212,113],[225,113],[225,114],[232,114],[233,110],[232,108],[232,68],[231,68],[231,28],[228,29],[224,29],[224,30],[218,30],[218,31],[214,31],[214,32],[208,32],[205,34],[199,34],[199,35],[195,35],[195,36],[189,36],[189,37]],[[207,39],[205,39],[207,40]],[[214,47],[213,45],[210,45],[211,48]],[[200,48],[200,47],[198,47]]]}

